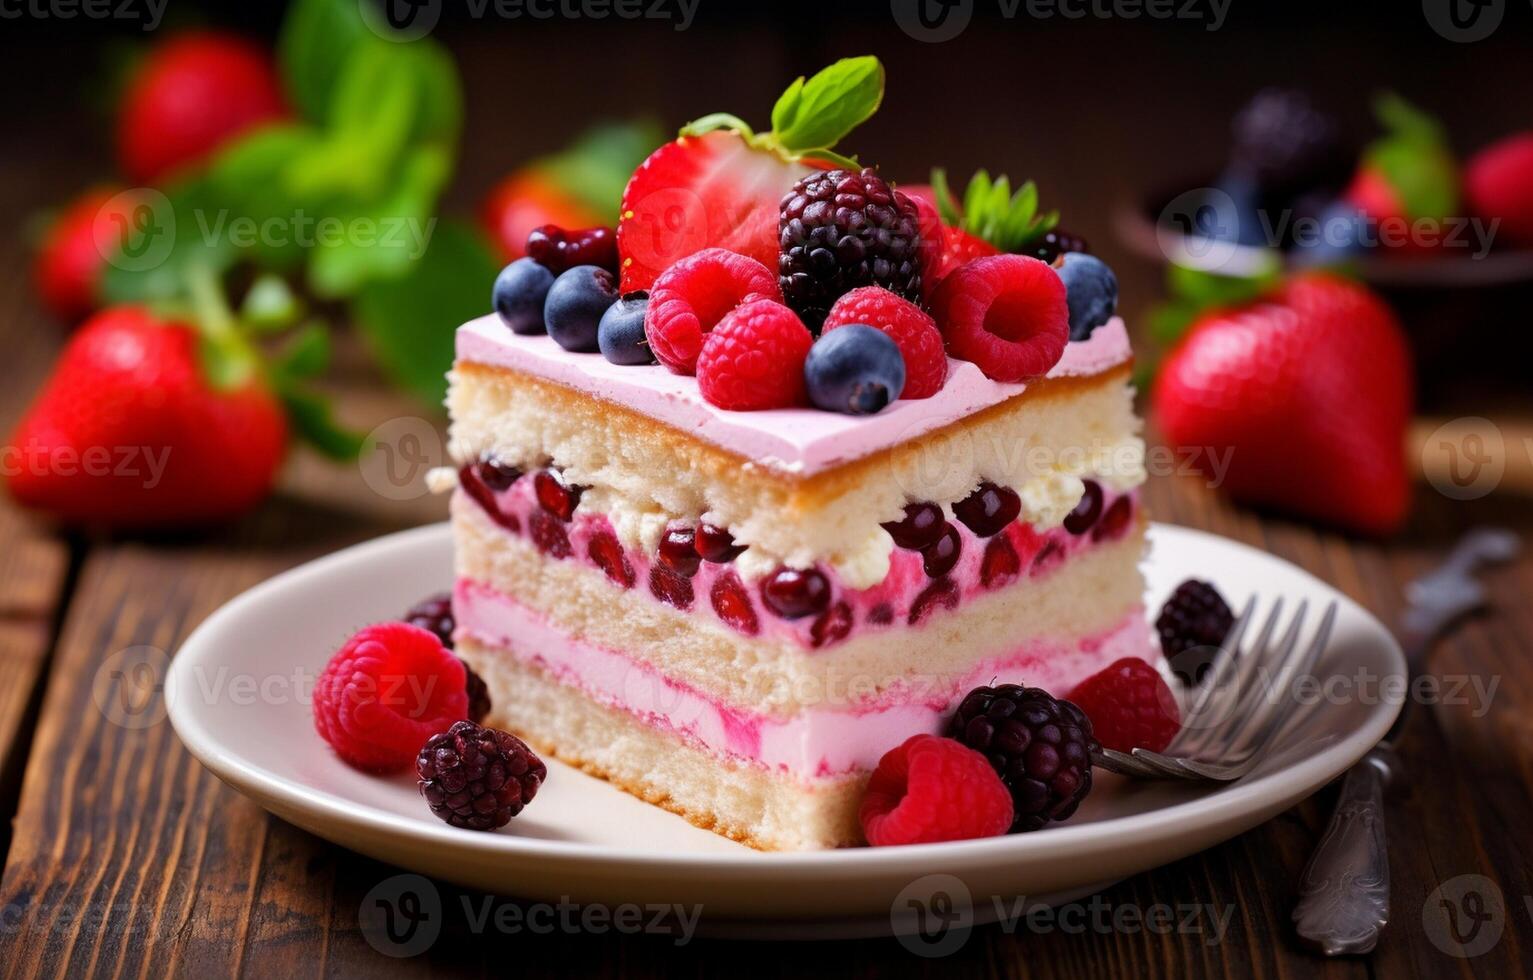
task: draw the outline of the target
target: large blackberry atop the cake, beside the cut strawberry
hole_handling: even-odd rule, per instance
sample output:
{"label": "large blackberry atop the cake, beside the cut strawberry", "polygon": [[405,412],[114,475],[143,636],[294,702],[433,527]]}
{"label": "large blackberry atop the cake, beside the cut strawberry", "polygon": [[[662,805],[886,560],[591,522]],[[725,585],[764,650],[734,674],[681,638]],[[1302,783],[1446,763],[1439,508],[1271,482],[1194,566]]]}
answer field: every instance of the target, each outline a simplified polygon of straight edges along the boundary
{"label": "large blackberry atop the cake, beside the cut strawberry", "polygon": [[820,170],[793,186],[777,212],[777,279],[816,333],[842,294],[881,285],[921,301],[915,202],[877,170]]}

